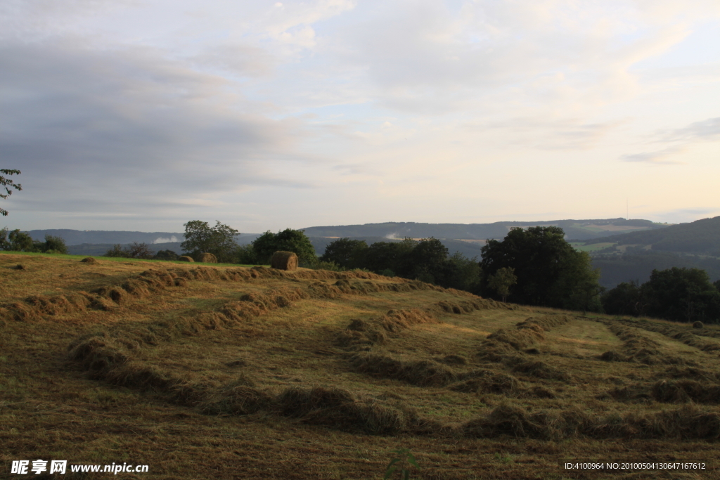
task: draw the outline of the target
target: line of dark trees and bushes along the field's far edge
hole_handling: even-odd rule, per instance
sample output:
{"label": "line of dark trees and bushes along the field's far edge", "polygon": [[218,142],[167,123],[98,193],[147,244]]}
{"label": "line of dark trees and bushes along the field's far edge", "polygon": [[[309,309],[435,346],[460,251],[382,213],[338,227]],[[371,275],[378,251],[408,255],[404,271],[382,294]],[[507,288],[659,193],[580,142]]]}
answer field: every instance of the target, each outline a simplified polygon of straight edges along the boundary
{"label": "line of dark trees and bushes along the field's far edge", "polygon": [[[590,255],[572,248],[559,227],[513,227],[505,238],[488,240],[482,259],[450,254],[436,238],[400,242],[377,242],[340,238],[316,255],[302,230],[287,228],[265,232],[249,245],[239,245],[238,230],[200,220],[185,225],[183,255],[199,258],[214,254],[220,263],[269,265],[278,250],[294,252],[300,266],[333,271],[361,269],[384,276],[417,279],[446,288],[461,289],[502,302],[538,305],[609,314],[649,315],[683,322],[720,319],[720,281],[711,284],[698,268],[653,271],[650,281],[619,284],[609,291],[600,286],[600,271]],[[66,253],[61,238],[46,235],[33,241],[27,233],[0,230],[0,249]],[[110,257],[176,260],[179,255],[163,250],[153,255],[150,245],[133,243],[114,247]]]}

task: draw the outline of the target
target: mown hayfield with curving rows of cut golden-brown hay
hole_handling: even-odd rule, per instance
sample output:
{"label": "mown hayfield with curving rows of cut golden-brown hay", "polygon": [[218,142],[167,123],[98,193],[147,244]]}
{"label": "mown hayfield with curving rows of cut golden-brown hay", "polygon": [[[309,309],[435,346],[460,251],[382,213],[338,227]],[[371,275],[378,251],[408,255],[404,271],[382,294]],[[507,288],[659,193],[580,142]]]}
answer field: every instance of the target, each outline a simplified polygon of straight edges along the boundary
{"label": "mown hayfield with curving rows of cut golden-brown hay", "polygon": [[[362,271],[0,254],[0,476],[719,478],[720,329]],[[18,266],[22,266],[19,268]],[[706,469],[567,470],[566,462]],[[31,462],[32,465],[32,462]],[[397,477],[395,477],[397,478]]]}

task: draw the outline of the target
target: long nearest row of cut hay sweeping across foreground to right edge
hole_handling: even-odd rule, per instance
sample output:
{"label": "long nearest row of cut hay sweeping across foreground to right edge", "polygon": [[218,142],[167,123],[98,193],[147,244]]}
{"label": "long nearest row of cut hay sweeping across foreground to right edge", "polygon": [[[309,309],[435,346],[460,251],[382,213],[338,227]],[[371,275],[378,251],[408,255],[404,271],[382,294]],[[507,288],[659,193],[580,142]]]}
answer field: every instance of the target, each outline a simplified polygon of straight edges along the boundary
{"label": "long nearest row of cut hay sweeping across foreground to right edge", "polygon": [[[291,387],[279,394],[253,386],[240,378],[225,386],[184,381],[166,373],[118,356],[122,346],[113,340],[78,344],[71,357],[102,378],[114,384],[135,389],[152,389],[166,394],[173,402],[196,407],[207,415],[249,415],[270,412],[297,418],[311,425],[323,425],[352,433],[374,435],[464,435],[472,438],[536,438],[560,440],[587,437],[649,438],[683,440],[717,440],[720,438],[720,414],[689,405],[663,412],[611,412],[603,417],[580,409],[528,412],[519,406],[503,403],[487,415],[453,427],[424,420],[401,402],[391,404],[343,389],[299,389]],[[107,340],[107,339],[105,339]],[[488,376],[494,375],[489,373]],[[485,374],[480,375],[482,378]],[[497,382],[496,382],[497,383]],[[505,391],[518,386],[508,379]],[[675,383],[678,387],[680,382]],[[656,390],[660,386],[656,384]],[[684,385],[684,384],[683,384]],[[694,385],[697,387],[697,385]],[[670,391],[669,389],[667,391]],[[688,394],[689,389],[684,389]],[[696,389],[701,394],[701,389]],[[658,393],[660,394],[660,393]],[[667,395],[667,394],[666,394]],[[690,394],[688,394],[690,395]]]}

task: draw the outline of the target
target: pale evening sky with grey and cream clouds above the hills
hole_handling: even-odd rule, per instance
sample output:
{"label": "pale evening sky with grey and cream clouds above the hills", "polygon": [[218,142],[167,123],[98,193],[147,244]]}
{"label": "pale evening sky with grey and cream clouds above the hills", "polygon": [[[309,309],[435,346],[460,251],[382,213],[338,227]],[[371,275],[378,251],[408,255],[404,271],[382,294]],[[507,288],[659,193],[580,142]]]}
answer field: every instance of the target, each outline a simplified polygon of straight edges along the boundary
{"label": "pale evening sky with grey and cream clouds above the hills", "polygon": [[0,228],[720,215],[717,0],[4,0]]}

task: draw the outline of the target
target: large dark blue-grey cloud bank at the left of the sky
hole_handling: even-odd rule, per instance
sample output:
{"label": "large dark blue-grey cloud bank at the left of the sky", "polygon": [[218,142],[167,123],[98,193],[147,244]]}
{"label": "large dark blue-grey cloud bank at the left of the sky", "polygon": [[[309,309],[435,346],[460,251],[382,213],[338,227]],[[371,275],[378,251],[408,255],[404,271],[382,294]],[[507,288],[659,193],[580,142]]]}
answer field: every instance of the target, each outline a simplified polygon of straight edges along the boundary
{"label": "large dark blue-grey cloud bank at the left of the sky", "polygon": [[222,81],[153,50],[6,44],[0,64],[0,155],[22,170],[24,184],[35,184],[44,209],[312,187],[264,167],[293,158],[300,121],[253,113],[251,102],[223,92]]}

